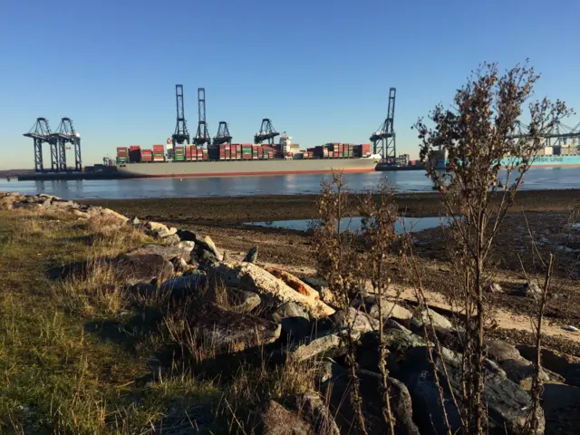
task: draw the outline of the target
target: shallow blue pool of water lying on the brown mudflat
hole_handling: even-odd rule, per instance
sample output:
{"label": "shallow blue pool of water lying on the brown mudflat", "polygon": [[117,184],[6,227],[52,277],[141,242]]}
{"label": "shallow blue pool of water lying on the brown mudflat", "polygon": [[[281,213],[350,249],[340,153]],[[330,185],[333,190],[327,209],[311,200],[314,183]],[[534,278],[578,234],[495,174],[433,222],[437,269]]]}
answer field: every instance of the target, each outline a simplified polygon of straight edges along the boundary
{"label": "shallow blue pool of water lying on the brown mudflat", "polygon": [[[361,228],[362,218],[344,218],[341,229],[351,229],[357,231]],[[448,218],[399,218],[395,223],[395,232],[403,234],[405,231],[417,233],[423,229],[436,228],[445,222],[449,224]],[[245,225],[253,227],[285,228],[297,231],[307,230],[313,221],[311,219],[275,220],[272,222],[247,222]]]}

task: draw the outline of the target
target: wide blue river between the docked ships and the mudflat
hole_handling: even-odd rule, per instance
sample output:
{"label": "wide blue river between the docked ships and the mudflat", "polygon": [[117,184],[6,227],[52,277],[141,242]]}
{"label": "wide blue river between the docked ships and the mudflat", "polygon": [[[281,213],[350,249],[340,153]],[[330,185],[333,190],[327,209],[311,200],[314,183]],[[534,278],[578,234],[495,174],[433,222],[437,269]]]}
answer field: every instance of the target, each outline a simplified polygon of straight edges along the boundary
{"label": "wide blue river between the docked ships and the mudflat", "polygon": [[[179,179],[101,179],[68,181],[7,181],[0,191],[47,193],[67,199],[208,198],[276,194],[312,194],[328,174],[268,175]],[[348,188],[364,191],[386,181],[400,193],[431,191],[422,170],[369,172],[346,175]],[[521,189],[580,189],[580,168],[531,169]]]}

